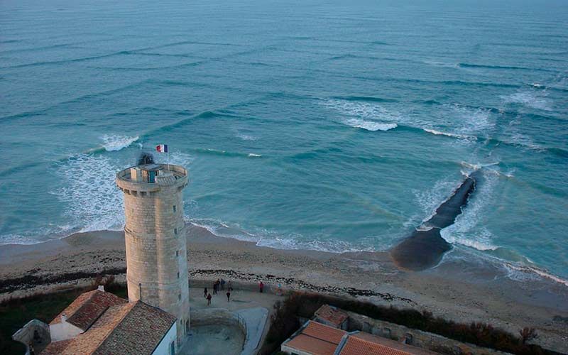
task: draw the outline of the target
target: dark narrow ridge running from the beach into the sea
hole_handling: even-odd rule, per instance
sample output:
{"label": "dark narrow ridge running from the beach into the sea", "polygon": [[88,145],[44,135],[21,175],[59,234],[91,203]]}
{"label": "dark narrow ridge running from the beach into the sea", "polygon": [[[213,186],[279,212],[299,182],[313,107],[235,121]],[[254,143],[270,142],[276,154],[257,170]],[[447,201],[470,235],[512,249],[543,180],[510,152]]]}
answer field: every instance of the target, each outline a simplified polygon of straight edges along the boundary
{"label": "dark narrow ridge running from the beach into the sea", "polygon": [[439,205],[435,214],[422,223],[408,238],[391,249],[391,258],[399,268],[420,271],[436,266],[444,253],[452,249],[442,238],[440,231],[454,224],[461,209],[466,206],[469,196],[475,191],[481,176],[480,170],[470,173],[452,196]]}

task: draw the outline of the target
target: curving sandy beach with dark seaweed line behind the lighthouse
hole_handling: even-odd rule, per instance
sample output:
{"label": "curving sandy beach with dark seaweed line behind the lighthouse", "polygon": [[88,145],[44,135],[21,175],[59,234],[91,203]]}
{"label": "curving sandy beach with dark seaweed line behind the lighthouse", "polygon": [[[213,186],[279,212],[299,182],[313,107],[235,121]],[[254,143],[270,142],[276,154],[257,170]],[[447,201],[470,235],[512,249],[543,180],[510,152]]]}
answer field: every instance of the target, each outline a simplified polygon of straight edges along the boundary
{"label": "curving sandy beach with dark seaweed line behind the lighthouse", "polygon": [[[285,287],[350,295],[396,307],[428,310],[459,322],[487,322],[517,333],[535,327],[535,343],[568,352],[568,287],[552,280],[518,282],[496,267],[444,261],[427,271],[397,268],[388,253],[280,250],[226,239],[188,225],[191,280],[282,283]],[[119,231],[73,234],[33,245],[0,246],[0,297],[70,287],[97,273],[124,280]]]}

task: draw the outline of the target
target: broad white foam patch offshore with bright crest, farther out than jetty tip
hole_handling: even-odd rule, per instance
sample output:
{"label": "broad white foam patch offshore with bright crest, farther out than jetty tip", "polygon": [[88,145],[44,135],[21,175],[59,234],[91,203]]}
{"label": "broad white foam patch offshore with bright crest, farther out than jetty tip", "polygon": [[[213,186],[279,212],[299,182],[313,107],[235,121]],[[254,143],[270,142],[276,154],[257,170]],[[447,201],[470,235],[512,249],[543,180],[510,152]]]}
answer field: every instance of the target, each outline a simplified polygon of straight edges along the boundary
{"label": "broad white foam patch offshore with bright crest, farther out than jetty tip", "polygon": [[367,131],[388,131],[396,128],[401,119],[397,112],[388,111],[379,104],[347,100],[327,100],[324,106],[348,116],[342,123]]}

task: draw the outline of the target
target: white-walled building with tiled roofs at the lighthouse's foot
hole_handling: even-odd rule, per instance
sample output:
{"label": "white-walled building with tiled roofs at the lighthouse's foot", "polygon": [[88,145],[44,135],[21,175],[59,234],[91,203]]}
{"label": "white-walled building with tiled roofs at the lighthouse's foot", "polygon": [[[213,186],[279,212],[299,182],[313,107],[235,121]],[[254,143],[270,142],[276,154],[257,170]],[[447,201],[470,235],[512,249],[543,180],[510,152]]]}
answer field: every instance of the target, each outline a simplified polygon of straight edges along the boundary
{"label": "white-walled building with tiled roofs at the lighthouse's foot", "polygon": [[[40,355],[170,355],[175,354],[176,317],[160,308],[98,290],[82,293],[45,324],[28,322],[13,339]],[[41,333],[42,342],[36,341]],[[45,340],[45,342],[44,342]]]}

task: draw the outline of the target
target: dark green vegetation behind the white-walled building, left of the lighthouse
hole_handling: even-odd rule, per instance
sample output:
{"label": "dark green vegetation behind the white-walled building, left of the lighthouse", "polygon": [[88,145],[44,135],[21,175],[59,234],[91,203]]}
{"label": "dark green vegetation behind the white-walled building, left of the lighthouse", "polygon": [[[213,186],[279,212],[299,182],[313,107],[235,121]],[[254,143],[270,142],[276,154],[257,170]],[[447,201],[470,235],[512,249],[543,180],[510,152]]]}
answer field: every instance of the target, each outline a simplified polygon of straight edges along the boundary
{"label": "dark green vegetation behind the white-walled building, left of the lighthouse", "polygon": [[114,276],[97,276],[87,288],[72,288],[53,293],[40,293],[23,298],[11,298],[0,303],[0,354],[21,355],[25,346],[12,340],[12,334],[33,319],[49,323],[81,293],[104,285],[105,290],[126,298],[126,286],[114,281]]}

